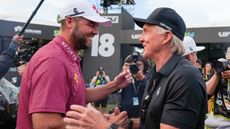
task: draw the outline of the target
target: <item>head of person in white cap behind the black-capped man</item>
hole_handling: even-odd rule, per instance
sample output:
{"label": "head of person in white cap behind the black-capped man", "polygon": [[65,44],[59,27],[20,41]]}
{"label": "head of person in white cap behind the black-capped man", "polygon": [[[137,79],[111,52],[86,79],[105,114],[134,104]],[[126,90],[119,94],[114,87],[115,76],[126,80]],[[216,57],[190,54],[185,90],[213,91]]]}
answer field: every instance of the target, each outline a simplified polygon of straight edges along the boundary
{"label": "head of person in white cap behind the black-capped man", "polygon": [[189,36],[185,36],[183,40],[184,45],[184,57],[186,57],[194,66],[197,62],[197,52],[202,51],[205,49],[204,46],[196,46],[195,41],[193,38]]}

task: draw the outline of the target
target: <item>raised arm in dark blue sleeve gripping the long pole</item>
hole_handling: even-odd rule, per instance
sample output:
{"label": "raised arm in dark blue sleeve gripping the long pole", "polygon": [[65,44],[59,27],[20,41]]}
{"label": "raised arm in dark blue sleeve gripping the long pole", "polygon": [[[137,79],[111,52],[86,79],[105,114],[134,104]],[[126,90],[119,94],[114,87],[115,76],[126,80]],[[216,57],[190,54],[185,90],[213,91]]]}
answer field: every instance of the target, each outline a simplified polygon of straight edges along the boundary
{"label": "raised arm in dark blue sleeve gripping the long pole", "polygon": [[8,49],[0,55],[0,79],[7,73],[10,67],[14,66],[15,54],[22,39],[23,36],[14,35]]}

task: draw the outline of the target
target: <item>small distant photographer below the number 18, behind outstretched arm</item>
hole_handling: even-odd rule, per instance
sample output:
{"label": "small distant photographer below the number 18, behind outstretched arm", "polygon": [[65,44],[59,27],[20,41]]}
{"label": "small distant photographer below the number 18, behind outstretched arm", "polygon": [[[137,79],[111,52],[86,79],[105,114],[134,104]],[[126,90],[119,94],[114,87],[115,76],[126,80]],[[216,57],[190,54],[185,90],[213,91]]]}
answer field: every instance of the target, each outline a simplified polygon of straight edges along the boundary
{"label": "small distant photographer below the number 18, behind outstretched arm", "polygon": [[[99,67],[96,75],[93,77],[92,81],[90,82],[90,86],[97,87],[103,86],[104,84],[110,82],[109,76],[105,74],[105,71],[102,67]],[[94,107],[99,110],[101,113],[105,113],[107,107],[108,97],[99,100],[94,103]],[[101,107],[100,107],[101,106]]]}

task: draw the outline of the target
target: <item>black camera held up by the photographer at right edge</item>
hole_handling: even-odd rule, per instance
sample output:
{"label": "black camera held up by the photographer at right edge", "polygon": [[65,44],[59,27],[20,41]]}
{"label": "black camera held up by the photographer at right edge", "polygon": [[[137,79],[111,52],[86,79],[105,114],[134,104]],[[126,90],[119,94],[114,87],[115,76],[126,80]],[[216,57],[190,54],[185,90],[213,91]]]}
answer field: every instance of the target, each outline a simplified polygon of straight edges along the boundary
{"label": "black camera held up by the photographer at right edge", "polygon": [[220,58],[213,63],[214,69],[219,74],[225,70],[230,70],[230,62],[224,58]]}

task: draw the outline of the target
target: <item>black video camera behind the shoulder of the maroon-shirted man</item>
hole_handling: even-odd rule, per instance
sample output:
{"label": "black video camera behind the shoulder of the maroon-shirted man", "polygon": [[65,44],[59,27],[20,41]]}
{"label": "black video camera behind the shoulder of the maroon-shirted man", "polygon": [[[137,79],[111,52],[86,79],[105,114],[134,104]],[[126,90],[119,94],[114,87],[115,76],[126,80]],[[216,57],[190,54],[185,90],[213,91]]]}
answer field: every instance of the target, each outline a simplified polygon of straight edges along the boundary
{"label": "black video camera behind the shoulder of the maroon-shirted man", "polygon": [[29,62],[33,54],[39,49],[38,39],[22,42],[19,51],[16,53],[16,66]]}

